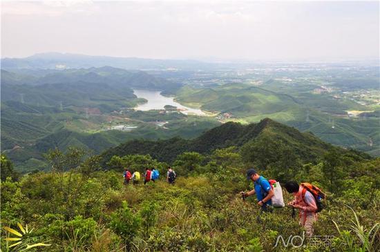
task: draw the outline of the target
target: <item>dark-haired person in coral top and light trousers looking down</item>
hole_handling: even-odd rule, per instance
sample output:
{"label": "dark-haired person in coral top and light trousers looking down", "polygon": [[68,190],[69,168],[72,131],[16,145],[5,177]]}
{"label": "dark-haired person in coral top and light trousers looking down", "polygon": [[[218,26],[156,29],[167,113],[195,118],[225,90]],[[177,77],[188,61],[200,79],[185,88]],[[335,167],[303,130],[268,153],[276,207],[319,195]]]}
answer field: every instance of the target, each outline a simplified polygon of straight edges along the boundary
{"label": "dark-haired person in coral top and light trousers looking down", "polygon": [[306,235],[309,237],[312,236],[314,233],[313,224],[316,222],[316,211],[318,209],[314,195],[304,186],[298,186],[294,181],[287,182],[285,189],[288,193],[294,195],[294,200],[289,202],[288,206],[299,209],[300,224],[305,229]]}

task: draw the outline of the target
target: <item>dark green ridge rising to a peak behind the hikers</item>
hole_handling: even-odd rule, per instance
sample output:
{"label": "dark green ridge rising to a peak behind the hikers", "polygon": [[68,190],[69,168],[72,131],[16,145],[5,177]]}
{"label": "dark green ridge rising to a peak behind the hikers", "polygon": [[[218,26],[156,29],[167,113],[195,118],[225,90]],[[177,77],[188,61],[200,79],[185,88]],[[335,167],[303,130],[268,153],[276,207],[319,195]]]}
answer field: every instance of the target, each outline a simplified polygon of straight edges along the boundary
{"label": "dark green ridge rising to a peak behind the hikers", "polygon": [[[332,149],[337,149],[341,153],[350,153],[350,151],[327,144],[310,133],[301,133],[295,128],[271,119],[263,119],[258,124],[247,126],[227,122],[189,140],[179,137],[159,141],[133,140],[109,149],[103,153],[103,157],[104,164],[113,155],[130,154],[149,154],[161,162],[172,162],[183,152],[211,153],[217,148],[230,146],[237,146],[240,149],[260,149],[271,146],[273,151],[279,151],[282,146],[285,146],[304,162],[315,162],[318,157]],[[360,154],[360,156],[368,158],[368,155]]]}

